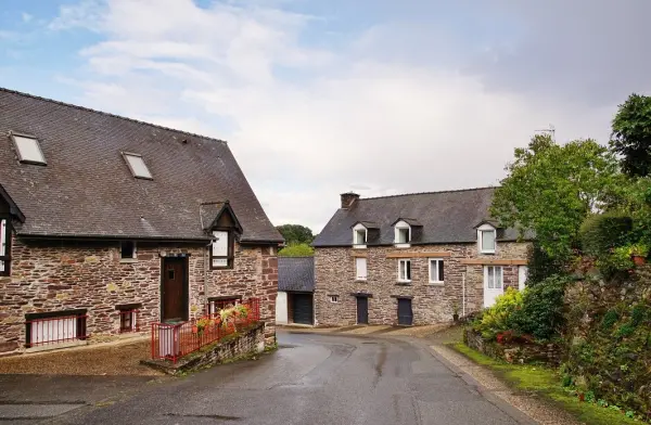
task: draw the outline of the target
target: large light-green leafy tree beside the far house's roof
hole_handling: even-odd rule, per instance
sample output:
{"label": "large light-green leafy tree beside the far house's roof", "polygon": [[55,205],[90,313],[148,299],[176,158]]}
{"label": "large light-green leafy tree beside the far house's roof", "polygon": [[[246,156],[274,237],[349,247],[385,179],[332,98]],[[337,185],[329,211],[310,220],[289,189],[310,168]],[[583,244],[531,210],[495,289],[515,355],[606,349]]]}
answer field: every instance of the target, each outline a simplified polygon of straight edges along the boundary
{"label": "large light-green leafy tree beside the far house's roof", "polygon": [[493,217],[521,235],[533,230],[540,248],[558,259],[570,257],[582,221],[605,206],[623,179],[614,155],[593,140],[561,146],[549,136],[516,149],[506,170]]}

